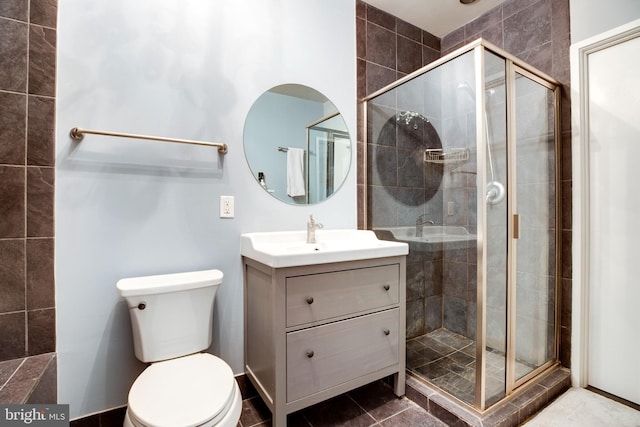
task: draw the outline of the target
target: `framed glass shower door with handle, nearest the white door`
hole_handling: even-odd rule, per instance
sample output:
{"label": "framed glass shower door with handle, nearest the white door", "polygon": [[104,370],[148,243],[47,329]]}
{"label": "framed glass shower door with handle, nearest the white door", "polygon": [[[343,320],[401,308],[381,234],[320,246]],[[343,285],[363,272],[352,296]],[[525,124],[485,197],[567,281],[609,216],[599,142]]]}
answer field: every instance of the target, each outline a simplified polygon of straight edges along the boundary
{"label": "framed glass shower door with handle, nearest the white door", "polygon": [[510,266],[512,387],[556,358],[556,96],[552,87],[514,67],[510,196],[513,248]]}

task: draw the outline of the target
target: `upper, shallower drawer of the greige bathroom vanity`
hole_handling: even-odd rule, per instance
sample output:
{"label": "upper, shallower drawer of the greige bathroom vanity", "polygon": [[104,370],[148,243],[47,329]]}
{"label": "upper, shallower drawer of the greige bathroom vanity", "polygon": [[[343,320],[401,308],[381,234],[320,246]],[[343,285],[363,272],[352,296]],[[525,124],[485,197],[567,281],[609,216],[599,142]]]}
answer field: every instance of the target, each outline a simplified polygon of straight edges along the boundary
{"label": "upper, shallower drawer of the greige bathroom vanity", "polygon": [[287,327],[398,304],[398,264],[287,277]]}

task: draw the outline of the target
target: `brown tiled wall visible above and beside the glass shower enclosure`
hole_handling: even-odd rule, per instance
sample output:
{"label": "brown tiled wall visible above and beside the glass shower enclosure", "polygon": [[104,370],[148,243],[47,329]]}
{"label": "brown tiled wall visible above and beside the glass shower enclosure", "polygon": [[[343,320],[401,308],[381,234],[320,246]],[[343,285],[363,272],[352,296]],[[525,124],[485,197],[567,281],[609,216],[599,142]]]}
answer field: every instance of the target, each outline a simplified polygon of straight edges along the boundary
{"label": "brown tiled wall visible above and beside the glass shower enclosure", "polygon": [[[357,3],[358,98],[392,83],[422,65],[483,37],[562,83],[561,133],[561,354],[570,367],[571,336],[571,113],[569,99],[569,0],[507,0],[476,20],[439,40],[422,31],[423,49],[401,48],[409,24],[363,2]],[[410,27],[410,26],[409,26]],[[414,30],[418,34],[420,30]],[[425,43],[426,41],[426,43]],[[425,55],[425,52],[427,55]],[[409,69],[411,64],[414,68]],[[365,124],[359,104],[358,129],[358,226],[366,228],[367,182],[363,171]]]}

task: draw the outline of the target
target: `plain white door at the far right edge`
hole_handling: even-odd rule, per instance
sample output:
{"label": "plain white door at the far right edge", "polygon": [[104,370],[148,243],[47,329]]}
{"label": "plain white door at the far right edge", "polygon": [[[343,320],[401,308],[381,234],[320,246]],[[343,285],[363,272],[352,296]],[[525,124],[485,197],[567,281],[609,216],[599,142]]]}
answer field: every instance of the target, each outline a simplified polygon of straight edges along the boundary
{"label": "plain white door at the far right edge", "polygon": [[640,404],[640,32],[586,58],[587,382]]}

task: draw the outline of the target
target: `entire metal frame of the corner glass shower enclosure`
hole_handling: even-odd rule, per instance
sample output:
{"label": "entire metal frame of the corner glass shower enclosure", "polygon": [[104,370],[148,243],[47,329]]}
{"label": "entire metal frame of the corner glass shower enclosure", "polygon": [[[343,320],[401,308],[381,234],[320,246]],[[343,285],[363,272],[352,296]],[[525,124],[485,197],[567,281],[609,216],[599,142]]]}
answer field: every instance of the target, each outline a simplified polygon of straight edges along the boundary
{"label": "entire metal frame of the corner glass shower enclosure", "polygon": [[[511,306],[507,309],[507,363],[505,366],[505,397],[502,398],[497,404],[503,403],[509,400],[514,393],[523,385],[528,383],[531,379],[539,376],[543,372],[550,370],[559,364],[559,349],[560,349],[560,221],[562,218],[561,212],[561,195],[560,195],[560,185],[559,183],[561,178],[561,159],[560,159],[560,83],[550,77],[549,75],[543,73],[542,71],[532,67],[531,65],[521,61],[517,57],[509,54],[503,49],[495,46],[494,44],[479,38],[449,54],[441,57],[440,59],[433,61],[432,63],[406,75],[405,77],[377,90],[376,92],[364,97],[362,99],[363,102],[363,158],[368,158],[367,154],[367,144],[368,144],[368,132],[366,129],[368,119],[367,119],[367,111],[368,111],[368,102],[377,96],[388,92],[414,78],[427,73],[428,71],[443,65],[446,62],[454,60],[459,56],[474,51],[474,62],[476,64],[475,67],[475,84],[476,87],[482,87],[485,82],[484,76],[484,53],[485,50],[495,54],[505,60],[505,85],[506,85],[506,103],[507,103],[507,118],[510,117],[514,112],[515,108],[515,75],[516,73],[520,73],[525,77],[529,77],[532,80],[535,80],[537,83],[542,84],[543,86],[553,90],[554,93],[554,119],[555,119],[555,129],[554,129],[554,154],[555,154],[555,245],[556,245],[556,253],[555,253],[555,337],[554,337],[554,355],[549,361],[545,362],[538,368],[534,369],[532,372],[523,376],[520,379],[515,379],[515,348],[513,347],[513,342],[515,338],[515,254],[516,251],[516,243],[514,236],[517,237],[517,216],[514,210],[514,201],[515,198],[513,194],[510,194],[510,188],[515,187],[515,165],[516,165],[516,150],[515,150],[515,120],[508,120],[507,122],[507,170],[510,171],[508,173],[508,185],[507,185],[507,305]],[[484,111],[485,111],[485,93],[484,90],[476,91],[476,105],[483,106],[482,108],[476,108],[476,149],[477,149],[477,162],[478,164],[485,165],[485,167],[479,169],[477,171],[478,176],[478,194],[484,194],[484,187],[486,185],[487,180],[487,171],[486,171],[486,154],[485,147],[488,141],[486,140],[486,125],[484,120]],[[363,178],[365,185],[363,186],[363,196],[366,201],[368,200],[367,194],[367,186],[368,186],[368,176],[367,176],[367,167],[363,168]],[[515,192],[513,192],[515,193]],[[514,200],[510,200],[510,199]],[[475,405],[470,405],[467,402],[464,402],[457,397],[451,395],[446,390],[442,390],[452,399],[461,402],[469,409],[482,414],[488,408],[486,406],[486,369],[485,369],[485,347],[486,347],[486,286],[487,286],[487,278],[486,278],[486,207],[487,202],[484,197],[477,197],[477,312],[476,312],[476,393],[475,393]],[[368,218],[368,208],[364,209],[363,219],[364,224],[369,224]],[[435,387],[435,385],[434,385]]]}

